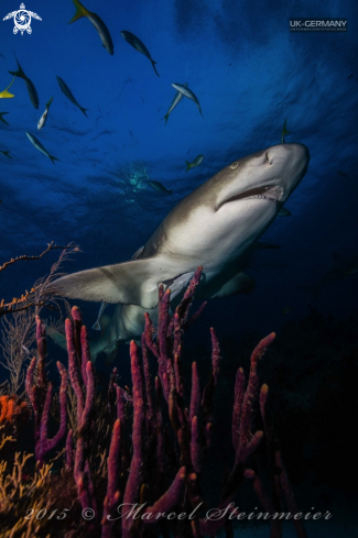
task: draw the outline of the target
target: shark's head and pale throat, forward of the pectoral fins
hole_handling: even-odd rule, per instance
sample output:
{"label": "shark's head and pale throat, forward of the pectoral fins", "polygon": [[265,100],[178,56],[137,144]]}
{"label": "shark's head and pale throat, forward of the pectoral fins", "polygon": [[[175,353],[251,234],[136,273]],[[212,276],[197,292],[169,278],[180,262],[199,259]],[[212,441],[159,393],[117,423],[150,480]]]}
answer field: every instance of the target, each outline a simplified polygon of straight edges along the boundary
{"label": "shark's head and pale throat, forward of the pectoral fins", "polygon": [[230,263],[272,223],[308,161],[303,144],[280,144],[232,162],[178,204],[165,235],[204,261]]}

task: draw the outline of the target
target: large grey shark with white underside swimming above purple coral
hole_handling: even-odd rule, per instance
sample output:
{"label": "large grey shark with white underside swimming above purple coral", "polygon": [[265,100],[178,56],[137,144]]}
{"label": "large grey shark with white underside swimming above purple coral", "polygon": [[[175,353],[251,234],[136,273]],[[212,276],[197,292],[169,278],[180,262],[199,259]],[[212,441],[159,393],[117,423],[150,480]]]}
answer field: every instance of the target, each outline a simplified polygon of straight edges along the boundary
{"label": "large grey shark with white underside swimming above purple coral", "polygon": [[170,287],[174,298],[199,265],[196,298],[249,293],[254,283],[243,272],[248,256],[305,175],[308,161],[307,147],[299,143],[235,161],[183,198],[131,261],[66,275],[47,289],[120,304],[112,320],[118,339],[120,323],[126,339],[139,338],[145,309],[158,307],[159,285]]}

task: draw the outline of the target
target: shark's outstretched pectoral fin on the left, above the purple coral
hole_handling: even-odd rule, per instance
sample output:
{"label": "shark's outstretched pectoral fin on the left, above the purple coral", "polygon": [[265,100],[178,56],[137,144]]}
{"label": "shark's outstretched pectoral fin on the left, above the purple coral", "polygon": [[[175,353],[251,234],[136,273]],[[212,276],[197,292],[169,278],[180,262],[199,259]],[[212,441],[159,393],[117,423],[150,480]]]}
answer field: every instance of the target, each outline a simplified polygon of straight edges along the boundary
{"label": "shark's outstretched pectoral fin on the left, above the purple coral", "polygon": [[159,284],[170,276],[161,257],[148,257],[63,276],[48,284],[46,290],[72,299],[150,309],[158,305]]}

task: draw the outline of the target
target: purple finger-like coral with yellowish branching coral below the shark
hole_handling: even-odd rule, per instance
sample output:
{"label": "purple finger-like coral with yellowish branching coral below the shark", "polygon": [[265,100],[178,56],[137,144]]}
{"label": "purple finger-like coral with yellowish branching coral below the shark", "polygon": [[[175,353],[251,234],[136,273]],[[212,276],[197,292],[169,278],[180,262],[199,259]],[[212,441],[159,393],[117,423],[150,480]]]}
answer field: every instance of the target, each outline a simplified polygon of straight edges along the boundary
{"label": "purple finger-like coral with yellowish branching coral below the shark", "polygon": [[[248,382],[243,370],[237,371],[232,464],[223,479],[214,508],[203,493],[205,464],[213,457],[215,461],[211,449],[221,356],[218,338],[210,329],[209,377],[203,385],[197,363],[193,362],[192,383],[186,382],[183,334],[203,309],[199,307],[189,318],[200,273],[198,267],[172,316],[170,290],[160,287],[158,327],[145,315],[141,353],[135,342],[130,344],[132,389],[120,387],[117,370],[112,372],[106,403],[109,429],[104,428],[87,330],[79,309],[73,307],[72,319],[65,323],[69,385],[65,367],[57,362],[59,425],[55,430],[51,417],[53,387],[45,372],[45,327],[36,317],[37,354],[30,363],[25,382],[34,415],[36,465],[28,462],[28,453],[15,453],[12,469],[7,462],[0,464],[1,538],[70,538],[88,534],[102,538],[199,538],[218,536],[221,530],[231,537],[232,521],[240,515],[235,507],[236,494],[247,481],[271,517],[271,537],[282,536],[278,514],[299,510],[268,414],[269,388],[260,388],[258,375],[258,365],[274,333],[262,339],[251,353]],[[158,375],[153,383],[155,363]],[[259,411],[262,429],[257,428]],[[67,421],[70,429],[65,437]],[[52,438],[50,430],[54,430]],[[102,433],[100,441],[98,432]],[[271,491],[260,465],[264,438],[271,462]],[[59,452],[51,462],[54,449]],[[213,512],[221,517],[207,517]],[[302,523],[293,523],[299,538],[304,538]]]}

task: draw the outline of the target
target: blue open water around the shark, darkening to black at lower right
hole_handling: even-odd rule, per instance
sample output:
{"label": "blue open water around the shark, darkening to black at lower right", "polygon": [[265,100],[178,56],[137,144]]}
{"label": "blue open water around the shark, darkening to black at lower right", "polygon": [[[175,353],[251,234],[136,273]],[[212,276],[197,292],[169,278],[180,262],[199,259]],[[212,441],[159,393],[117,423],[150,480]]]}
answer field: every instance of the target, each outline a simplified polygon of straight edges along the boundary
{"label": "blue open water around the shark, darkening to black at lower right", "polygon": [[[14,0],[0,7],[1,20],[20,9]],[[280,249],[252,255],[247,270],[256,281],[252,294],[209,300],[187,334],[186,352],[205,362],[209,327],[215,327],[225,354],[224,377],[232,386],[238,358],[248,361],[257,336],[278,333],[275,366],[267,364],[265,375],[278,391],[290,380],[290,398],[294,384],[297,398],[308,394],[305,410],[314,409],[315,416],[310,428],[324,430],[300,453],[305,452],[310,465],[297,465],[297,471],[289,454],[292,482],[299,484],[300,498],[310,501],[313,480],[319,490],[314,501],[332,502],[337,514],[329,521],[311,521],[308,536],[355,538],[357,463],[347,431],[351,427],[354,432],[357,421],[351,382],[358,373],[357,3],[87,0],[86,8],[111,34],[113,55],[86,18],[68,25],[75,12],[70,0],[32,0],[25,8],[42,21],[32,19],[31,35],[13,34],[12,20],[1,22],[0,90],[11,83],[9,70],[18,69],[18,59],[39,92],[40,107],[34,109],[20,78],[9,89],[14,97],[0,99],[9,123],[0,121],[0,152],[10,152],[0,153],[0,265],[21,254],[40,254],[51,241],[79,245],[80,252],[62,267],[67,273],[130,260],[184,196],[229,163],[279,144],[285,120],[285,142],[308,147],[308,169],[285,205],[292,215],[278,217],[262,238]],[[306,17],[346,18],[348,30],[290,32],[290,18]],[[160,77],[124,41],[123,30],[147,45]],[[87,117],[66,99],[56,77],[65,80]],[[182,99],[165,122],[173,83],[188,84],[204,118],[193,101]],[[46,124],[37,131],[51,97]],[[58,162],[36,151],[26,132]],[[199,154],[203,163],[186,172],[185,162]],[[155,190],[150,182],[172,194]],[[0,299],[10,301],[30,289],[57,254],[2,272]],[[325,276],[335,263],[343,268]],[[98,304],[70,304],[82,308],[88,327],[95,322]],[[96,331],[89,330],[89,338],[96,340]],[[63,350],[53,343],[50,349],[53,363],[65,360]],[[129,384],[127,344],[111,366],[100,358],[96,362],[102,384],[115,365]],[[3,369],[0,375],[6,378]],[[330,383],[334,391],[324,393]],[[327,415],[330,426],[324,422]],[[290,452],[297,442],[294,436],[308,422],[295,410],[288,417],[281,420],[281,438],[286,435]],[[346,470],[340,472],[343,462]],[[268,536],[268,529],[242,528],[237,536]]]}

